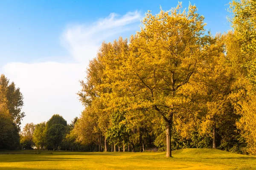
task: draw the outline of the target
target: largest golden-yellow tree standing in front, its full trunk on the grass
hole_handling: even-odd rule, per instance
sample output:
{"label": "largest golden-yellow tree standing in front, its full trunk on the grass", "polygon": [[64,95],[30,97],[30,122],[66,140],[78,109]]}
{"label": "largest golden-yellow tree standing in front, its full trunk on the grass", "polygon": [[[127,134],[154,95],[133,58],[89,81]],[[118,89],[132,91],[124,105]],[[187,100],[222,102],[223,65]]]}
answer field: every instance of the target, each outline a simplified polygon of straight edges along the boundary
{"label": "largest golden-yellow tree standing in front, its full trunk on the grass", "polygon": [[191,100],[183,86],[197,72],[202,58],[205,24],[196,11],[191,4],[182,10],[179,3],[156,16],[148,12],[141,31],[131,37],[126,66],[120,68],[131,94],[129,109],[150,111],[164,120],[167,157],[172,156],[173,122],[189,113],[186,105]]}

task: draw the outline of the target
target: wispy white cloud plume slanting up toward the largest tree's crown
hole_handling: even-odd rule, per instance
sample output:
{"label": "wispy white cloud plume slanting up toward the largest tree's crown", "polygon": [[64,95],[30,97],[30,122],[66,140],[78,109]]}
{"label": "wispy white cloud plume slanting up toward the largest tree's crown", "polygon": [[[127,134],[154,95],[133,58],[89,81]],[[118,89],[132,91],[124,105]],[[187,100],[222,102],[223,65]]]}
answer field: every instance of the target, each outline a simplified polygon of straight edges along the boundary
{"label": "wispy white cloud plume slanting up toward the largest tree's crown", "polygon": [[87,63],[88,57],[96,56],[102,41],[118,38],[123,32],[138,29],[140,19],[138,11],[128,12],[123,16],[111,13],[91,25],[69,26],[62,34],[61,41],[78,62]]}

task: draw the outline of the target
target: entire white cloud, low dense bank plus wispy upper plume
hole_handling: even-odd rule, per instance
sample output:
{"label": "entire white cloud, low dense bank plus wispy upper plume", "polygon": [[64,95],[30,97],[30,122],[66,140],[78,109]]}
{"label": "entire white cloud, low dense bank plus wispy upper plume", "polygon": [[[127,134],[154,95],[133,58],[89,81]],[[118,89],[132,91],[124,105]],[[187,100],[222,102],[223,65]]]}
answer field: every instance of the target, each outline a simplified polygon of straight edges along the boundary
{"label": "entire white cloud, low dense bank plus wispy upper plume", "polygon": [[137,11],[123,16],[112,13],[92,24],[68,26],[61,34],[61,43],[70,52],[74,63],[12,62],[4,65],[3,73],[20,87],[24,96],[26,116],[22,126],[28,122],[47,121],[56,113],[68,122],[79,116],[83,107],[76,93],[81,89],[79,79],[86,76],[89,60],[96,56],[104,40],[138,30],[140,19]]}

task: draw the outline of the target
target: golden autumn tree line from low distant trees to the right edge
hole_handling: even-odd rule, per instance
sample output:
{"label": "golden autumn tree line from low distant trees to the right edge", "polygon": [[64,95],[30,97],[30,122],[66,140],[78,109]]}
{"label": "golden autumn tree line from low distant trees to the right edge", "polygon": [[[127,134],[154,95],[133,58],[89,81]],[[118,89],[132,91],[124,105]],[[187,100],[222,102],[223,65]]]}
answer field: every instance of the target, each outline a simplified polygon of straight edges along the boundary
{"label": "golden autumn tree line from low distant trees to the right edge", "polygon": [[215,36],[195,5],[148,11],[140,31],[103,42],[90,61],[81,116],[27,124],[23,147],[256,154],[256,1],[233,0],[229,10],[233,29]]}

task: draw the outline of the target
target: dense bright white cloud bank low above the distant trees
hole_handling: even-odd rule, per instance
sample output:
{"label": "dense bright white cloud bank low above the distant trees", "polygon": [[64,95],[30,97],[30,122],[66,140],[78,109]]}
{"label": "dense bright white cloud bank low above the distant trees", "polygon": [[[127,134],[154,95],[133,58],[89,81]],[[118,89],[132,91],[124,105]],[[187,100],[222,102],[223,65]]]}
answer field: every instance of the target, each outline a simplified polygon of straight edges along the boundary
{"label": "dense bright white cloud bank low above the distant trees", "polygon": [[26,116],[22,125],[47,121],[56,113],[70,122],[81,112],[76,93],[80,89],[79,79],[84,77],[85,67],[82,65],[9,63],[3,69],[23,93]]}

